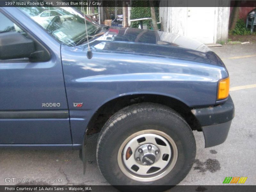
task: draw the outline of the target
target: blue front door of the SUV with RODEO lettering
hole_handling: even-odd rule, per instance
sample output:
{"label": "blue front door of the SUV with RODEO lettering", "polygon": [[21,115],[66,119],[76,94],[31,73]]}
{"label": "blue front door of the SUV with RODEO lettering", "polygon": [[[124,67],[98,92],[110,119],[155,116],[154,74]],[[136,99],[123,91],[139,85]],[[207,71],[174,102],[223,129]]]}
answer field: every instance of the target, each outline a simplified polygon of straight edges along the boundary
{"label": "blue front door of the SUV with RODEO lettering", "polygon": [[[49,41],[48,46],[46,38],[43,42],[25,30],[15,18],[22,18],[34,31],[41,28],[15,12],[15,8],[0,8],[0,35],[15,32],[31,39],[36,59],[0,60],[0,145],[72,144],[60,44]],[[0,51],[1,57],[1,47]]]}

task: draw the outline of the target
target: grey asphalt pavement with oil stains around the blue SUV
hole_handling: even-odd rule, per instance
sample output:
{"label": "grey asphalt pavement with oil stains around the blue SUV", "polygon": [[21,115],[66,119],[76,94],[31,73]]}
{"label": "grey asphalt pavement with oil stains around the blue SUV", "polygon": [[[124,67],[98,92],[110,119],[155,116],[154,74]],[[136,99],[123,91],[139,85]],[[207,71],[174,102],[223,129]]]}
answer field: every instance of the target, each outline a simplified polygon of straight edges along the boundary
{"label": "grey asphalt pavement with oil stains around the blue SUV", "polygon": [[[227,140],[215,147],[204,148],[203,133],[194,131],[196,161],[180,185],[222,185],[226,177],[247,177],[243,185],[256,185],[256,44],[211,49],[228,68],[230,87],[234,90],[230,95],[235,104],[235,118]],[[97,166],[97,136],[91,135],[88,140],[89,160],[85,175],[79,151],[0,149],[0,185],[19,184],[12,179],[5,182],[5,178],[44,179],[39,184],[45,184],[47,179],[61,179],[60,183],[50,184],[109,185]]]}

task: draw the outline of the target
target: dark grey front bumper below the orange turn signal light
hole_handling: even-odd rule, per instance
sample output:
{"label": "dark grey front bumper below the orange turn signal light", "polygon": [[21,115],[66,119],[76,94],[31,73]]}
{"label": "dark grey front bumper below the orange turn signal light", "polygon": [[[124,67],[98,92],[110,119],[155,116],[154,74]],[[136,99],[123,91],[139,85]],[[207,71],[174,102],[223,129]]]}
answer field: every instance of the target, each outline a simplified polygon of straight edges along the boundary
{"label": "dark grey front bumper below the orange turn signal light", "polygon": [[233,100],[228,100],[215,107],[192,109],[191,112],[202,126],[205,148],[223,143],[228,137],[231,120],[235,115]]}

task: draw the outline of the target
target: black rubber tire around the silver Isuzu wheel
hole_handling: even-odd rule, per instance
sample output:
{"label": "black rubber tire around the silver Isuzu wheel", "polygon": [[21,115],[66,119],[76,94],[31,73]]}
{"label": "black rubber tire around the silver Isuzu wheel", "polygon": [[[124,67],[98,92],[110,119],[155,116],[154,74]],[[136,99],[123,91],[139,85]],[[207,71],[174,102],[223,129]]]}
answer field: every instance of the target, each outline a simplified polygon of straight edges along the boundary
{"label": "black rubber tire around the silver Isuzu wheel", "polygon": [[[169,135],[177,146],[178,156],[172,170],[163,178],[140,182],[130,179],[120,170],[117,154],[124,140],[133,133],[148,129]],[[111,185],[131,185],[125,186],[126,191],[140,187],[145,190],[145,187],[150,185],[151,188],[148,189],[158,186],[154,190],[161,191],[170,188],[171,185],[177,185],[190,171],[195,156],[196,142],[187,122],[171,108],[155,103],[134,104],[116,112],[102,128],[97,144],[100,172]],[[160,189],[159,186],[163,188]]]}

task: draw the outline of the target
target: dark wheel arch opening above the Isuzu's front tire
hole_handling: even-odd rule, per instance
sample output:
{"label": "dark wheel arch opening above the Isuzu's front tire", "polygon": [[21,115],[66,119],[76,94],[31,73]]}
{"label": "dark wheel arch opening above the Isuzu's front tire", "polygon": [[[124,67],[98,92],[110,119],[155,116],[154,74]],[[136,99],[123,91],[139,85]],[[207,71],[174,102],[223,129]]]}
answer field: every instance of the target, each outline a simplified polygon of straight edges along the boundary
{"label": "dark wheel arch opening above the Isuzu's front tire", "polygon": [[191,113],[192,108],[177,98],[156,93],[130,93],[111,98],[100,105],[87,125],[87,134],[100,132],[108,119],[120,109],[144,102],[158,103],[172,108],[186,120],[192,130],[201,131],[199,122]]}

